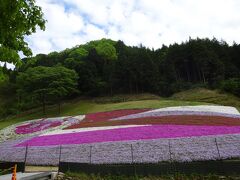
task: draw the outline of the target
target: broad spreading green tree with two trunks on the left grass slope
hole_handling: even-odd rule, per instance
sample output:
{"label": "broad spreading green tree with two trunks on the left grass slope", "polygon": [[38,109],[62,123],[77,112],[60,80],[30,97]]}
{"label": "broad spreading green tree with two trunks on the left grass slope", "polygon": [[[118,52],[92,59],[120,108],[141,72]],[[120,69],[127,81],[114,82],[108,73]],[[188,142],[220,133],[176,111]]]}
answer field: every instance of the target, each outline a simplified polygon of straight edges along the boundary
{"label": "broad spreading green tree with two trunks on the left grass slope", "polygon": [[17,77],[18,94],[39,100],[44,114],[49,101],[58,103],[60,112],[62,98],[77,92],[77,79],[74,70],[62,66],[29,68]]}

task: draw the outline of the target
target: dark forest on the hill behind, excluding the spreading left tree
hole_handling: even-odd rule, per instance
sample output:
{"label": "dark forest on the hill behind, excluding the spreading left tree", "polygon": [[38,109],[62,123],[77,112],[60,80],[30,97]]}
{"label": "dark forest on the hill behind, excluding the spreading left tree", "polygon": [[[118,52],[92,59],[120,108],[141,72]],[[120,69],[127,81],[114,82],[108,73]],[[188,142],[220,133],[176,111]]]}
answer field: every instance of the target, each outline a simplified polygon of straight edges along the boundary
{"label": "dark forest on the hill behind, excluding the spreading left tree", "polygon": [[22,66],[14,71],[3,68],[8,74],[5,79],[15,88],[18,98],[24,91],[19,90],[18,76],[39,66],[74,70],[77,74],[74,95],[149,92],[170,96],[198,86],[240,94],[240,45],[230,46],[215,38],[190,38],[156,50],[101,39],[61,52],[24,58]]}

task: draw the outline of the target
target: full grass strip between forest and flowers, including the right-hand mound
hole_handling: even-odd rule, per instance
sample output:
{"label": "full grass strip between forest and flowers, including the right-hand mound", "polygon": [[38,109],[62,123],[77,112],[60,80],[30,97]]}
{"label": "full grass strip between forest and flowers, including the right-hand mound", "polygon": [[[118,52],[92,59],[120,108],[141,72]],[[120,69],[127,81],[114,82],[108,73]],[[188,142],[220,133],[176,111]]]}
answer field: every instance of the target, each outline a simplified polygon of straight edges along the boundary
{"label": "full grass strip between forest and flowers, including the right-hand mound", "polygon": [[170,98],[161,98],[151,94],[140,95],[116,95],[93,99],[75,99],[64,103],[61,113],[58,114],[58,106],[47,107],[46,115],[41,108],[32,109],[16,116],[8,117],[0,121],[0,129],[9,125],[37,119],[42,117],[56,117],[67,115],[79,115],[92,112],[111,111],[117,109],[134,108],[162,108],[169,106],[220,104],[235,106],[240,110],[240,99],[229,94],[219,93],[207,89],[193,89],[174,94]]}

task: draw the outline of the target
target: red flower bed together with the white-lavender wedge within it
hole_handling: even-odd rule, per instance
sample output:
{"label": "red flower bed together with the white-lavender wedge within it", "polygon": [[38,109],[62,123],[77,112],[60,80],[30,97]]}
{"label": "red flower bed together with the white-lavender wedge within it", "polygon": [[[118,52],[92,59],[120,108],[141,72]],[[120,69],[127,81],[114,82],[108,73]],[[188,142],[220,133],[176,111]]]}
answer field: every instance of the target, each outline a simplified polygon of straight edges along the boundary
{"label": "red flower bed together with the white-lavender wedge within it", "polygon": [[180,106],[156,110],[117,110],[88,114],[80,123],[65,129],[143,124],[238,126],[240,125],[240,113],[236,108],[228,106]]}

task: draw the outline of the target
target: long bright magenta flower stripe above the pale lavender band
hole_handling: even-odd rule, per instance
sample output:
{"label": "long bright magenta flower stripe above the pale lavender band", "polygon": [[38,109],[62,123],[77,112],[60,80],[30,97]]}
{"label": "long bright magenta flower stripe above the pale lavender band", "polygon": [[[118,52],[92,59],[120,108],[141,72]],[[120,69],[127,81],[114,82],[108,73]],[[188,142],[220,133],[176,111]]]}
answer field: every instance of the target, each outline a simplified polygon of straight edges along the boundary
{"label": "long bright magenta flower stripe above the pale lavender band", "polygon": [[34,137],[17,146],[51,146],[110,141],[238,134],[240,126],[153,125]]}

